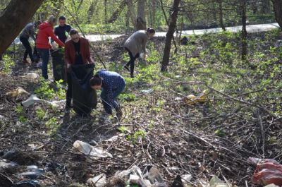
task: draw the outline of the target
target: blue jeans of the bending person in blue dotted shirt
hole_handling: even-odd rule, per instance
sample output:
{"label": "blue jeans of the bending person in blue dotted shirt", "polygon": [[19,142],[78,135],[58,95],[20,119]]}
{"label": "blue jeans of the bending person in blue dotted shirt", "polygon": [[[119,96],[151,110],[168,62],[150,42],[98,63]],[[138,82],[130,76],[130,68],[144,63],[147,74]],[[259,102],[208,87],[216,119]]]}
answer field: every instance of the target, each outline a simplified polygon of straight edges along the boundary
{"label": "blue jeans of the bending person in blue dotted shirt", "polygon": [[119,108],[119,105],[116,102],[116,97],[118,97],[118,95],[120,95],[121,92],[123,92],[124,88],[125,88],[125,84],[123,84],[121,87],[117,88],[116,90],[113,90],[113,97],[114,97],[113,106],[110,105],[110,101],[108,100],[108,97],[106,97],[108,93],[104,89],[102,89],[101,98],[106,113],[113,114],[112,107],[114,107],[114,109]]}

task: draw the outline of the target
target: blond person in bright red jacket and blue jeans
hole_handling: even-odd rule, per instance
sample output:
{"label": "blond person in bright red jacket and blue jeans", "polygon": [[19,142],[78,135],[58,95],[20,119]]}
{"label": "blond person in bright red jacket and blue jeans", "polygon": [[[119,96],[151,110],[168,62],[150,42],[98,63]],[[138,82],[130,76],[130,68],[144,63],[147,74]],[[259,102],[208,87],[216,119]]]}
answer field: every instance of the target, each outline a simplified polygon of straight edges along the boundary
{"label": "blond person in bright red jacket and blue jeans", "polygon": [[48,62],[49,62],[49,49],[51,44],[49,42],[49,37],[54,40],[59,46],[64,47],[65,44],[59,40],[54,34],[54,26],[57,23],[57,19],[54,16],[50,16],[47,22],[39,25],[38,35],[36,39],[36,48],[42,58],[42,76],[48,79]]}

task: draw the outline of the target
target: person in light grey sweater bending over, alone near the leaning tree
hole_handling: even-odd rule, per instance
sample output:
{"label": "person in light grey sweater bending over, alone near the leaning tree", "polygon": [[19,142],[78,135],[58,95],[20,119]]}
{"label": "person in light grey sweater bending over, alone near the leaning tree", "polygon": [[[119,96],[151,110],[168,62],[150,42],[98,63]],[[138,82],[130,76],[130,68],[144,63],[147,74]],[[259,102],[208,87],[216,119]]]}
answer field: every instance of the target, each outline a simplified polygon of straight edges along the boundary
{"label": "person in light grey sweater bending over, alone near the leaning tree", "polygon": [[[134,78],[134,64],[135,60],[144,53],[144,59],[146,59],[146,44],[147,41],[152,38],[155,34],[155,30],[152,28],[147,28],[147,30],[138,30],[131,35],[128,40],[124,43],[124,49],[128,52],[130,60],[124,68],[130,71],[131,78]],[[130,70],[129,67],[130,66]]]}

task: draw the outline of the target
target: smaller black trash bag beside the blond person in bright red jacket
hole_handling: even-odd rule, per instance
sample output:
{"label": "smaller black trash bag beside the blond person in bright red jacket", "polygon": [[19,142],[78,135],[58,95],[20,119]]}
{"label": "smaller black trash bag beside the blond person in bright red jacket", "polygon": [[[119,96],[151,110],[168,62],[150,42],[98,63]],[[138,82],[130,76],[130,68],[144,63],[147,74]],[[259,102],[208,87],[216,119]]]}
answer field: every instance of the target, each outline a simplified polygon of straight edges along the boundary
{"label": "smaller black trash bag beside the blond person in bright red jacket", "polygon": [[54,80],[63,80],[63,83],[66,83],[66,68],[63,55],[63,48],[55,49],[51,52]]}

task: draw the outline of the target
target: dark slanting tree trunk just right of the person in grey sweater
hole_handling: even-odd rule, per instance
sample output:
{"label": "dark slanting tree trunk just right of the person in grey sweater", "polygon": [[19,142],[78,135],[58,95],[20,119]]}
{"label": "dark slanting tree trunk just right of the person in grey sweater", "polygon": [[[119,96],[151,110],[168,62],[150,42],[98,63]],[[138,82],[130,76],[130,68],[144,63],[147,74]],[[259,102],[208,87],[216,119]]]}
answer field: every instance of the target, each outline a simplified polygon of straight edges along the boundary
{"label": "dark slanting tree trunk just right of the person in grey sweater", "polygon": [[178,7],[179,7],[180,0],[173,1],[173,8],[172,13],[169,18],[169,25],[168,25],[168,32],[166,33],[166,44],[164,46],[164,56],[163,61],[161,62],[161,71],[167,71],[167,66],[169,62],[169,56],[171,54],[171,40],[173,38],[173,33],[176,29],[176,21],[178,15]]}

